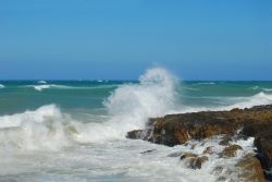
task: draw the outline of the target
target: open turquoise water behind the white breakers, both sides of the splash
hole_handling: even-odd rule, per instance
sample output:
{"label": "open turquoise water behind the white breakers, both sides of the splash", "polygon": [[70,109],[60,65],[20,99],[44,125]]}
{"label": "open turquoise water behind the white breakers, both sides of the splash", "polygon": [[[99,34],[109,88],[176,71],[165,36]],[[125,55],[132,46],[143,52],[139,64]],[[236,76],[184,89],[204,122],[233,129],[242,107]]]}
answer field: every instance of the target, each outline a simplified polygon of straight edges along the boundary
{"label": "open turquoise water behind the white breakers, both sides of the splash", "polygon": [[[10,114],[55,104],[62,109],[104,110],[114,89],[138,81],[0,81],[0,113]],[[227,106],[232,99],[272,94],[272,82],[183,81],[177,100],[186,106]]]}

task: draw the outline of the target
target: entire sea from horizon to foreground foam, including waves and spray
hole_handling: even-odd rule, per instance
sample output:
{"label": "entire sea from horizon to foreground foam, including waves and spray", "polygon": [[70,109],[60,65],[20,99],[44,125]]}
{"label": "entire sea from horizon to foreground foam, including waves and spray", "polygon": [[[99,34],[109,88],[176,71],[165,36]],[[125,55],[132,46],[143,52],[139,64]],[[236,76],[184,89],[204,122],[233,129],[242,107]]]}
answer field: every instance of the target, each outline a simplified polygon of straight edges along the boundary
{"label": "entire sea from horizon to foreground foam, including waves and spray", "polygon": [[168,147],[126,133],[170,113],[269,104],[272,82],[183,81],[163,68],[137,81],[0,81],[0,182],[237,181],[251,137],[235,141],[243,150],[234,158],[207,154],[191,169],[180,155],[220,151],[220,136]]}

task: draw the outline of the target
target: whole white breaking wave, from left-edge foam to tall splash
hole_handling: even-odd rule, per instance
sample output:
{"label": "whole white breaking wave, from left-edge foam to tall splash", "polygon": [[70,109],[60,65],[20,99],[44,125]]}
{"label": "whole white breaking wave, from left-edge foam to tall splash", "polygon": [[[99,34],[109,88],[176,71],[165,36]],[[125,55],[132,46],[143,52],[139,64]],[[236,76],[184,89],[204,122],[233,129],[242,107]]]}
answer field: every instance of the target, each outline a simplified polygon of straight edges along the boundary
{"label": "whole white breaking wave, from left-edge foam to tall splash", "polygon": [[0,145],[26,149],[58,149],[70,143],[101,143],[125,138],[128,131],[145,126],[150,117],[175,108],[175,78],[163,69],[148,70],[139,84],[119,86],[104,101],[103,122],[72,120],[54,105],[0,117]]}

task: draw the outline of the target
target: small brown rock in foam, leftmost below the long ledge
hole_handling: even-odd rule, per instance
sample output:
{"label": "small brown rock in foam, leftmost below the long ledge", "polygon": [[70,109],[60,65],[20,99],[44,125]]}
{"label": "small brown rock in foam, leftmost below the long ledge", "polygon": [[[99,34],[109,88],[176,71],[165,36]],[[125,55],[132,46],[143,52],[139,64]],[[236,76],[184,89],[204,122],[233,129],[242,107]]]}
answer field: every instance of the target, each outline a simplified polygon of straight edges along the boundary
{"label": "small brown rock in foam, leftmost below the long ledge", "polygon": [[181,160],[186,159],[186,165],[191,169],[200,169],[202,163],[208,161],[207,156],[198,157],[196,154],[187,153],[181,156]]}

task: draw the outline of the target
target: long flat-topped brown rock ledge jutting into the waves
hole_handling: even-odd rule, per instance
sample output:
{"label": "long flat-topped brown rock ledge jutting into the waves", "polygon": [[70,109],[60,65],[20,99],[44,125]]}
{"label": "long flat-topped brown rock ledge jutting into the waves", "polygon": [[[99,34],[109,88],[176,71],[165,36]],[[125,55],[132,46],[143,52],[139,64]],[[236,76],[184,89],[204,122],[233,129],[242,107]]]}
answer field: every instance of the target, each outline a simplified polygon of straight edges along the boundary
{"label": "long flat-topped brown rock ledge jutting into the waves", "polygon": [[[272,123],[272,106],[259,106],[250,109],[233,109],[231,111],[202,111],[182,114],[169,114],[150,119],[148,129],[143,133],[128,133],[128,138],[143,138],[152,143],[174,146],[189,139],[202,139],[213,135],[233,136],[243,129],[246,136],[256,136],[259,132],[252,125]],[[146,134],[146,136],[144,136]],[[226,141],[221,143],[227,145]]]}

